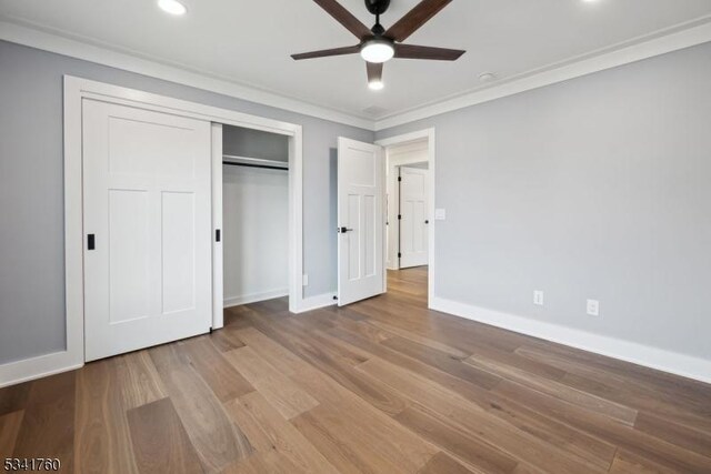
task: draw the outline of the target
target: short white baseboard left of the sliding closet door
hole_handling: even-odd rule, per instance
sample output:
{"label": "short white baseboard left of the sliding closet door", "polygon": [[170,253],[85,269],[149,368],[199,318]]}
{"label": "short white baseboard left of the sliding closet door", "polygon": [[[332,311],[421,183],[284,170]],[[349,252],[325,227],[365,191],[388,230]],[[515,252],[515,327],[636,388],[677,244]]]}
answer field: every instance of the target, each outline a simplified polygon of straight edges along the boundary
{"label": "short white baseboard left of the sliding closet door", "polygon": [[[81,354],[83,357],[83,353]],[[22,382],[73,371],[83,366],[78,354],[56,352],[0,365],[0,389]]]}

